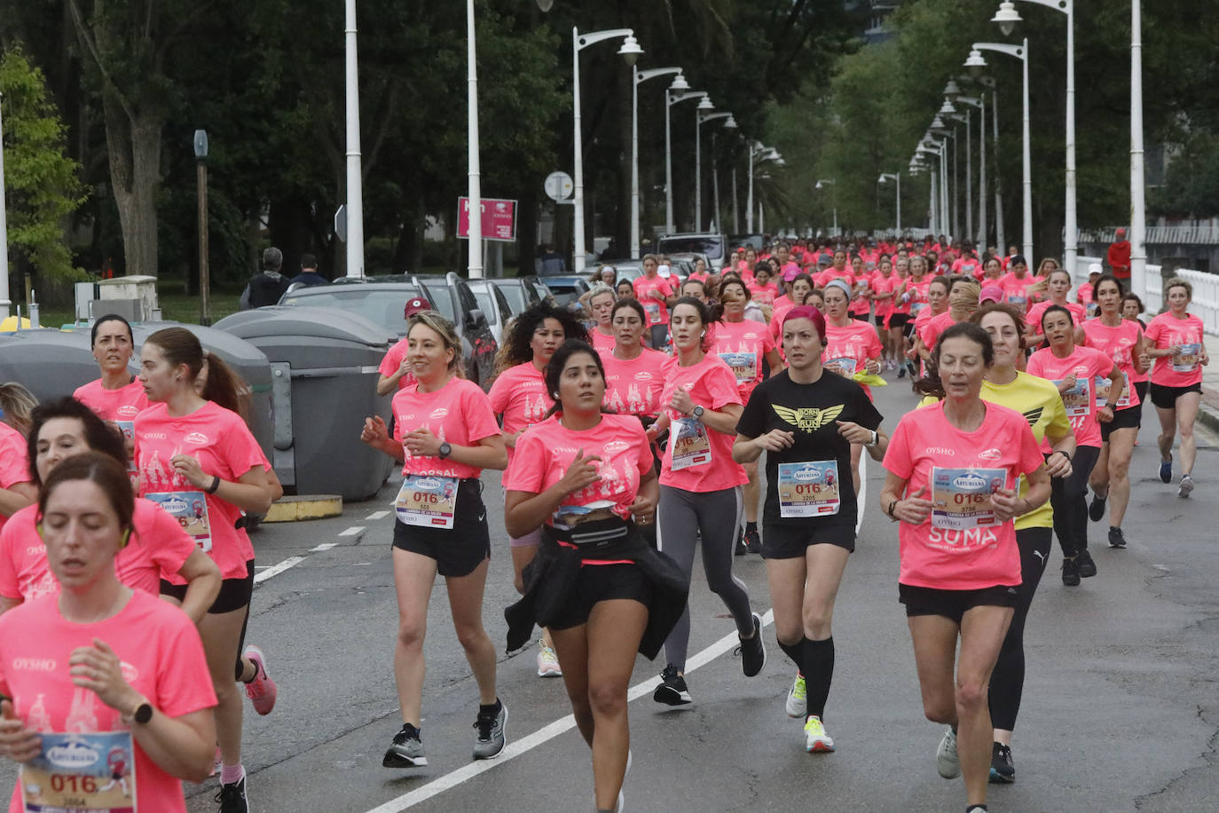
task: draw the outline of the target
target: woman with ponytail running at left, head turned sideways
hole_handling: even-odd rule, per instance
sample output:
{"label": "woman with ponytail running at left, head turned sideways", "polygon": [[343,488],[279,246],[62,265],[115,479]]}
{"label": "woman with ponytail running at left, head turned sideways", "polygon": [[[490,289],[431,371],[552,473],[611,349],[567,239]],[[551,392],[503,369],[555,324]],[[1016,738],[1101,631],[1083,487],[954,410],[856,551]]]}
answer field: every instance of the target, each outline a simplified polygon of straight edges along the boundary
{"label": "woman with ponytail running at left, head turned sideways", "polygon": [[[199,633],[218,701],[222,764],[216,801],[222,813],[245,813],[243,708],[234,678],[267,684],[269,678],[261,652],[241,651],[254,595],[254,546],[243,512],[267,513],[271,485],[262,450],[238,414],[236,375],[213,353],[206,361],[207,386],[200,396],[194,383],[205,356],[193,333],[165,328],[144,341],[139,378],[151,406],[135,417],[135,466],[140,496],[171,512],[188,506],[187,533],[224,578]],[[187,585],[177,578],[162,580],[161,594],[180,602]]]}

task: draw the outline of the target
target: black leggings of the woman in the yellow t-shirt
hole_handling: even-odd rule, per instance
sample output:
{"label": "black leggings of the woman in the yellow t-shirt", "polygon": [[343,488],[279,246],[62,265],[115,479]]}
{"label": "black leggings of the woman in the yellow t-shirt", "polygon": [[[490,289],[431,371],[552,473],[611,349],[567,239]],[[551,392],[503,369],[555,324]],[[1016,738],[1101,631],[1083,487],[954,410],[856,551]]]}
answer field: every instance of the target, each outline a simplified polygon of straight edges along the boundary
{"label": "black leggings of the woman in the yellow t-shirt", "polygon": [[998,651],[998,661],[991,672],[990,711],[991,725],[1004,731],[1015,730],[1015,715],[1020,711],[1024,694],[1024,619],[1032,606],[1032,594],[1037,591],[1046,559],[1053,545],[1048,528],[1022,528],[1015,531],[1015,544],[1020,546],[1020,595],[1017,598],[1012,624]]}

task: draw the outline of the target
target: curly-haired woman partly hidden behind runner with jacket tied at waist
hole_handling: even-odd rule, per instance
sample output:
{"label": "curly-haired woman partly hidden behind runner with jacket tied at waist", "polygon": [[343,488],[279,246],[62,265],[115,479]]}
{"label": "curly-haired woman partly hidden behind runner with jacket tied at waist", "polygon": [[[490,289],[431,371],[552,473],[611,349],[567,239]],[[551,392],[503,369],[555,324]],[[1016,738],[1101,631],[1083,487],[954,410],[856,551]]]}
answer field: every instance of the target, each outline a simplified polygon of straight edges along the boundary
{"label": "curly-haired woman partly hidden behind runner with jacket tied at waist", "polygon": [[[652,264],[656,264],[655,257]],[[542,371],[567,339],[581,341],[588,339],[584,324],[570,311],[547,302],[539,302],[527,308],[508,327],[495,364],[500,373],[488,396],[491,400],[491,411],[500,418],[510,462],[521,433],[545,421],[546,413],[555,406],[546,391]],[[524,590],[524,579],[521,574],[536,556],[539,539],[539,534],[534,531],[508,540],[518,591]],[[538,640],[538,675],[558,678],[561,674],[555,647],[550,642],[550,633],[542,628],[541,637]]]}

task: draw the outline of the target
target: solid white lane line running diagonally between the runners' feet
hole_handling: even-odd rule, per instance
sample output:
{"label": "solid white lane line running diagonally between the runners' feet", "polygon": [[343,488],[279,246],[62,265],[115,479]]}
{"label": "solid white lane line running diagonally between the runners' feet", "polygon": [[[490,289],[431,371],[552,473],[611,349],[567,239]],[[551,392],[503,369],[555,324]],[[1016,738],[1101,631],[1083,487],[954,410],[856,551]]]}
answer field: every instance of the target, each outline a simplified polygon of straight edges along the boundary
{"label": "solid white lane line running diagonally between the runners' feet", "polygon": [[[861,458],[859,497],[858,497],[858,505],[856,507],[856,513],[857,513],[856,533],[858,533],[859,527],[863,525],[863,507],[865,505],[865,499],[868,494],[867,483],[868,483],[867,464],[863,461],[863,458]],[[762,617],[762,628],[766,629],[772,624],[772,622],[774,622],[773,608],[766,611],[766,614]],[[694,672],[698,667],[711,663],[724,652],[728,652],[729,650],[734,648],[737,644],[740,644],[740,639],[737,637],[736,633],[735,631],[729,633],[728,635],[719,639],[707,648],[702,650],[694,657],[689,658],[686,661],[686,669],[685,669],[686,673]],[[659,683],[661,683],[659,676],[656,676],[656,678],[649,678],[647,680],[635,684],[627,692],[627,701],[630,702],[634,700],[639,700],[640,697],[651,694],[652,691],[655,691],[656,686],[659,685]],[[416,787],[414,790],[407,793],[402,793],[397,798],[390,800],[384,804],[372,808],[371,811],[368,811],[368,813],[401,813],[402,811],[414,807],[416,804],[419,804],[422,802],[425,802],[434,796],[439,796],[446,790],[451,790],[457,785],[461,785],[462,783],[466,783],[478,776],[479,774],[486,773],[488,770],[495,768],[496,765],[502,765],[506,762],[511,762],[512,759],[516,759],[517,757],[523,756],[529,751],[533,751],[538,746],[545,745],[550,740],[553,740],[556,736],[570,731],[573,728],[575,728],[575,718],[572,714],[568,714],[567,717],[561,717],[553,723],[544,725],[542,728],[538,729],[533,734],[529,734],[528,736],[524,736],[519,740],[513,740],[503,748],[503,751],[496,759],[472,762],[466,765],[462,765],[456,770],[451,770],[447,774],[444,774],[442,776],[433,779],[432,781],[421,787]]]}

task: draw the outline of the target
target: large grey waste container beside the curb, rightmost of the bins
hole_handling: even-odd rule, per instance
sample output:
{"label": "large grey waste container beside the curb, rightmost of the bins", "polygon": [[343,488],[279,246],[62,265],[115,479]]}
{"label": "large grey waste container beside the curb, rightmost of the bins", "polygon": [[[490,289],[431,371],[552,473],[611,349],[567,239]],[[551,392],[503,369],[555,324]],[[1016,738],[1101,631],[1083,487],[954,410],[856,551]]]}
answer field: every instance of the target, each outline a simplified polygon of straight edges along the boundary
{"label": "large grey waste container beside the curb, rightmost of the bins", "polygon": [[391,396],[377,395],[377,367],[389,349],[384,328],[328,307],[275,306],[216,323],[258,347],[274,377],[272,462],[284,490],[377,495],[393,461],[360,440],[364,417],[389,421]]}

